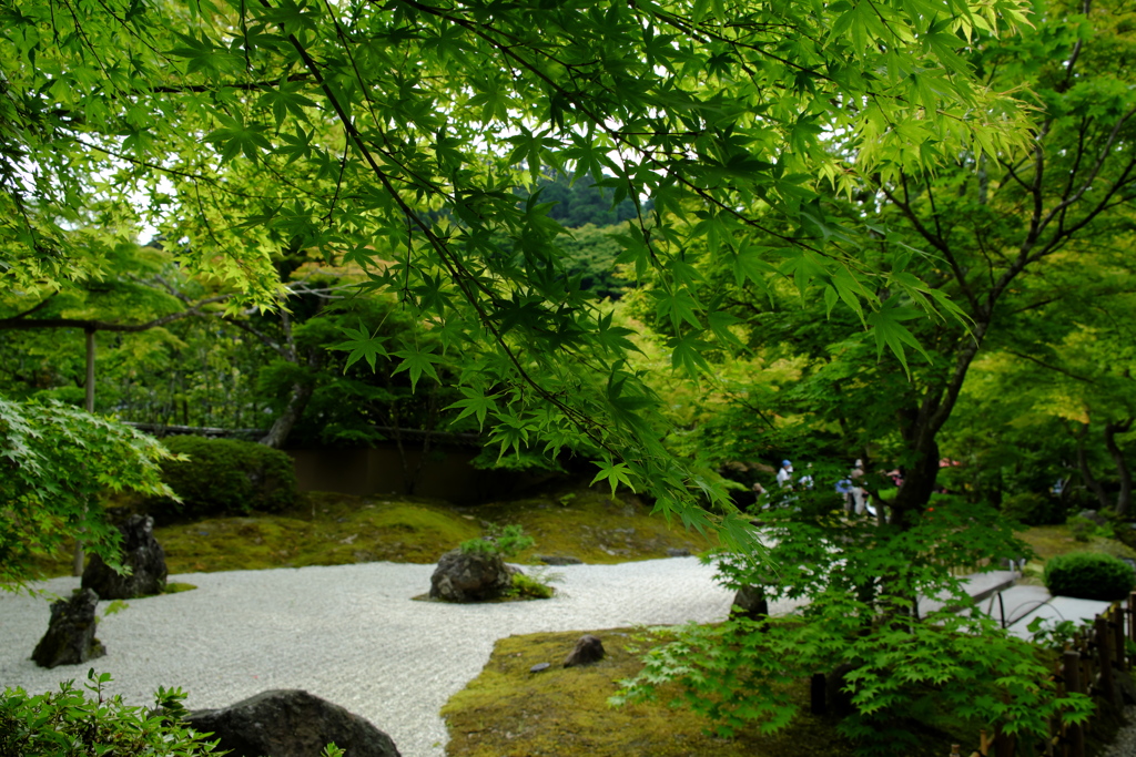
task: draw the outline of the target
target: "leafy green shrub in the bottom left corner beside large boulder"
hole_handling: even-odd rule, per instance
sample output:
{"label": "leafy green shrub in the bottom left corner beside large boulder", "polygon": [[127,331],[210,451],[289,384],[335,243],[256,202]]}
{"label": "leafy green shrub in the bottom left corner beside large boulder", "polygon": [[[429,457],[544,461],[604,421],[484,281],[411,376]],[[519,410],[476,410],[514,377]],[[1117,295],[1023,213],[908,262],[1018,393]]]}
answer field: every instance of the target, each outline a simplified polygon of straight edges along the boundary
{"label": "leafy green shrub in the bottom left corner beside large boulder", "polygon": [[23,689],[0,695],[0,757],[51,755],[86,757],[114,754],[116,757],[198,757],[214,751],[204,735],[191,731],[178,720],[184,713],[179,690],[158,691],[158,708],[148,712],[127,707],[120,697],[105,699],[102,685],[107,673],[87,673],[87,698],[67,681],[59,691],[28,696]]}

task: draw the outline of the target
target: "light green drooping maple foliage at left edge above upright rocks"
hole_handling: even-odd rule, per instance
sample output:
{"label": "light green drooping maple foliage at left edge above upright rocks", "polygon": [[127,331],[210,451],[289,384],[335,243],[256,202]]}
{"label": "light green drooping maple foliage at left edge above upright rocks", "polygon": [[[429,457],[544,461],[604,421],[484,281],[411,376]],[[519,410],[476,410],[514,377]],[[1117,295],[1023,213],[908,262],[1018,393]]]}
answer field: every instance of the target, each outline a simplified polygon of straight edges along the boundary
{"label": "light green drooping maple foliage at left edge above upright rocks", "polygon": [[99,506],[106,491],[172,496],[157,440],[60,403],[0,397],[0,588],[33,578],[31,563],[82,536],[117,566],[120,535]]}

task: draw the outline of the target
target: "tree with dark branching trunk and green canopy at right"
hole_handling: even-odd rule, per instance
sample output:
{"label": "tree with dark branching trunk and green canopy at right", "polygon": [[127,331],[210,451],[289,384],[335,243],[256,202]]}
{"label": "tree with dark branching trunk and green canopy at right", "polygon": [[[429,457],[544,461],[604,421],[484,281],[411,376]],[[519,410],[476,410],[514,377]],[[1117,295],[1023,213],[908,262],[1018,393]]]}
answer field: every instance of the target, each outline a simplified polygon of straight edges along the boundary
{"label": "tree with dark branching trunk and green canopy at right", "polygon": [[[936,486],[939,434],[980,351],[1044,359],[1038,343],[1056,345],[1085,322],[1087,301],[1108,310],[1105,297],[1124,293],[1136,200],[1134,23],[1121,2],[1053,2],[1018,34],[976,41],[976,70],[1033,102],[1030,149],[959,151],[934,173],[869,174],[830,197],[833,216],[871,219],[863,262],[892,271],[877,281],[870,331],[833,309],[830,291],[788,286],[777,271],[737,288],[727,268],[703,284],[704,297],[718,293],[750,322],[762,354],[802,361],[779,396],[785,412],[836,430],[850,461],[886,449],[889,466],[904,469],[901,520],[922,512]],[[963,318],[920,318],[920,287],[949,295]],[[1124,338],[1114,322],[1102,326]]]}

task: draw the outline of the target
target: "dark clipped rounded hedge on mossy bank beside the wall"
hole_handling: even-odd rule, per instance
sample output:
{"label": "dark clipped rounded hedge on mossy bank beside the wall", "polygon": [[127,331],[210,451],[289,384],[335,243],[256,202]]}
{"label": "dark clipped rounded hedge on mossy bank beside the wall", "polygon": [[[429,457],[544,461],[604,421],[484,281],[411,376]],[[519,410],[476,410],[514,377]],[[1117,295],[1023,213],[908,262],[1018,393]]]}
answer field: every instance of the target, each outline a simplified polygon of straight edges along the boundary
{"label": "dark clipped rounded hedge on mossy bank beside the wall", "polygon": [[150,503],[150,513],[186,519],[244,515],[253,510],[279,512],[295,503],[292,459],[278,449],[236,439],[175,436],[165,439],[187,461],[162,464],[162,479],[182,498]]}

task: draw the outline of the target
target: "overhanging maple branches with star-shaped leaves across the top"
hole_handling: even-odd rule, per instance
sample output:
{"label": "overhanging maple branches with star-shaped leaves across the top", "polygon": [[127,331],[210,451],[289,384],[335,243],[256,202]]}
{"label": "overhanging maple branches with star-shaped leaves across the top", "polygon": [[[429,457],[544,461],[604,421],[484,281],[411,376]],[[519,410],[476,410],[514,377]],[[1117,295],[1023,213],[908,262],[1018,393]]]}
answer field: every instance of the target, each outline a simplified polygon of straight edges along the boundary
{"label": "overhanging maple branches with star-shaped leaves across the top", "polygon": [[[864,264],[818,182],[899,186],[1012,150],[1022,115],[957,51],[1002,19],[1022,5],[0,0],[0,286],[98,277],[140,220],[253,302],[273,302],[279,251],[317,250],[429,323],[436,342],[393,356],[412,381],[459,362],[461,407],[502,449],[579,451],[701,518],[684,493],[721,493],[658,443],[627,334],[516,191],[554,169],[653,201],[623,261],[655,271],[677,367],[730,338],[694,244],[740,281],[772,258],[894,334],[880,292],[934,300],[900,258]],[[383,353],[370,337],[350,335],[353,359]]]}

